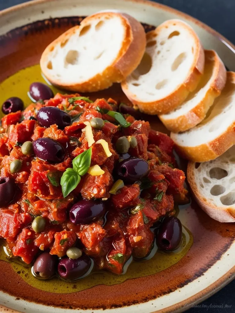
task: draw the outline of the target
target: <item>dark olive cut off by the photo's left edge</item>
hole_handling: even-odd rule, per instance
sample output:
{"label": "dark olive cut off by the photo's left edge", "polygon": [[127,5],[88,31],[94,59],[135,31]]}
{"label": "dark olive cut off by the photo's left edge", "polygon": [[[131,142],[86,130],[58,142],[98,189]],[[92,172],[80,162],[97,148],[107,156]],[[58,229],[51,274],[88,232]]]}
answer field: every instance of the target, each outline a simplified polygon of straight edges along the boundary
{"label": "dark olive cut off by the photo's left edge", "polygon": [[8,205],[15,197],[17,185],[12,178],[0,178],[0,207]]}

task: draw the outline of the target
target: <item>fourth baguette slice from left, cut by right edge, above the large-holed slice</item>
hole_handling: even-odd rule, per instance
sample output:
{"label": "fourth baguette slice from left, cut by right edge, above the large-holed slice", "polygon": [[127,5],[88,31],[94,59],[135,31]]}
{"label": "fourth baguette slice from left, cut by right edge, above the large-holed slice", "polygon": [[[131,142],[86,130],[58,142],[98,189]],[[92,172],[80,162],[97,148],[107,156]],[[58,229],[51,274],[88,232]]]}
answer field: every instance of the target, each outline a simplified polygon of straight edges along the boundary
{"label": "fourth baguette slice from left, cut by right edge, above the large-holed slice", "polygon": [[235,144],[235,73],[227,72],[221,95],[197,126],[183,133],[171,133],[179,153],[194,162],[217,158]]}

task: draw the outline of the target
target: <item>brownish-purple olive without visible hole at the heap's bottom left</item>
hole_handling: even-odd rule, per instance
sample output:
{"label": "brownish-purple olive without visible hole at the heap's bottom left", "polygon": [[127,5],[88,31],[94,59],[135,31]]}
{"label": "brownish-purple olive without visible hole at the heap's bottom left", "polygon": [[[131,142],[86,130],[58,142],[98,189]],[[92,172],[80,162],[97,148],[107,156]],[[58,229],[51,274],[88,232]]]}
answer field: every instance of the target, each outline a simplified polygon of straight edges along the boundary
{"label": "brownish-purple olive without visible hole at the heap's bottom left", "polygon": [[55,274],[56,255],[51,255],[49,252],[40,254],[34,262],[34,273],[42,278],[50,278]]}

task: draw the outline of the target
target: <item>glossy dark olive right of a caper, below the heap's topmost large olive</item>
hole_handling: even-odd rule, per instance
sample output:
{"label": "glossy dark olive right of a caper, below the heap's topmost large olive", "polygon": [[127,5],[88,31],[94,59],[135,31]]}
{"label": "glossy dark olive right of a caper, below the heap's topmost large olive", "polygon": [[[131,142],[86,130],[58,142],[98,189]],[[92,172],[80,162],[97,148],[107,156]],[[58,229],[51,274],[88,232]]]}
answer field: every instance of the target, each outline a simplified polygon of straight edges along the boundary
{"label": "glossy dark olive right of a caper, below the heap's topmost large olive", "polygon": [[33,142],[34,153],[39,159],[60,163],[64,160],[65,150],[61,144],[50,138],[39,138]]}

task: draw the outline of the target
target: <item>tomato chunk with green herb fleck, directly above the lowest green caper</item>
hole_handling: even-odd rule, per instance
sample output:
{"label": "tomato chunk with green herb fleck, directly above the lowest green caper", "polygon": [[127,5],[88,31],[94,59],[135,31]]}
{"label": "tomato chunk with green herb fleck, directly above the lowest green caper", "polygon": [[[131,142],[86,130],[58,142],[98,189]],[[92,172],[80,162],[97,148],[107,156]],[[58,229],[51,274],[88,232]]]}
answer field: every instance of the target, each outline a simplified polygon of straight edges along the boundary
{"label": "tomato chunk with green herb fleck, directly above the lowest green caper", "polygon": [[55,233],[55,241],[50,250],[50,254],[56,254],[62,257],[66,251],[71,248],[76,241],[76,234],[71,231],[62,230],[60,233]]}

